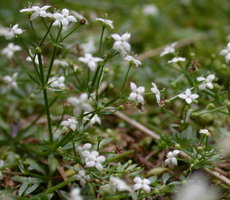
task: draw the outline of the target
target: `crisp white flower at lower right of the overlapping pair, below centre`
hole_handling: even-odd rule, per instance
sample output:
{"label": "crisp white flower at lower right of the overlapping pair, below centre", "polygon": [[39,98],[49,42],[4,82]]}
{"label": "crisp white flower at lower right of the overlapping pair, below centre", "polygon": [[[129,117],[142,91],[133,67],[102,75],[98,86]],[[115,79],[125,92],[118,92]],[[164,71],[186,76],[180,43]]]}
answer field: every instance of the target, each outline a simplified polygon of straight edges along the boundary
{"label": "crisp white flower at lower right of the overlapping pair, below centre", "polygon": [[85,157],[85,167],[96,167],[99,171],[101,171],[103,169],[102,163],[104,161],[104,156],[100,156],[97,151],[91,151]]}

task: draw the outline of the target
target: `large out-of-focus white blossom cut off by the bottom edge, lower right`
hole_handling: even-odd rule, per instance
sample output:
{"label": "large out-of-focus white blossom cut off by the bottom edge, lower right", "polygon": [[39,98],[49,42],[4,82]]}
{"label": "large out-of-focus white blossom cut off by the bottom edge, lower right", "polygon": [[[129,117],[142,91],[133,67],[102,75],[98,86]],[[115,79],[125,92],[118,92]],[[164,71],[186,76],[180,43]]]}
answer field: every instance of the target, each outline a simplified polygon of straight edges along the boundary
{"label": "large out-of-focus white blossom cut off by the bottom edge, lower right", "polygon": [[195,173],[176,194],[174,200],[219,200],[219,191],[202,173]]}

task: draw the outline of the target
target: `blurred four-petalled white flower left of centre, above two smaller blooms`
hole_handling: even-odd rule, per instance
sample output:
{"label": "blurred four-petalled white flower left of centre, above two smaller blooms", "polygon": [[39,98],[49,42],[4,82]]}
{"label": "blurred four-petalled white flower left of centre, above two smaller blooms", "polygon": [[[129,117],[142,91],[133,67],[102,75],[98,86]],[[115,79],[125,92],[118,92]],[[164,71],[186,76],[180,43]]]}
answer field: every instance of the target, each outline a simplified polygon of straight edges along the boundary
{"label": "blurred four-petalled white flower left of centre, above two smaller blooms", "polygon": [[72,106],[74,106],[73,113],[75,116],[80,115],[82,112],[92,111],[91,105],[88,103],[88,94],[83,93],[79,98],[69,97],[67,100]]}

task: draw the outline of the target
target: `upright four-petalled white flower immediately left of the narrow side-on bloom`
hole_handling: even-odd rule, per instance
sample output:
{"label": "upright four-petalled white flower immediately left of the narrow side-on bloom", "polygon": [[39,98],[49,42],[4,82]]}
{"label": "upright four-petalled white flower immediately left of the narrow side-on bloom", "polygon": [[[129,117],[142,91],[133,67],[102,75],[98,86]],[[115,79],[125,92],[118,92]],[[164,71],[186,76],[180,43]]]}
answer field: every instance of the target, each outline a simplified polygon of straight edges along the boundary
{"label": "upright four-petalled white flower immediately left of the narrow side-on bloom", "polygon": [[129,100],[138,101],[144,104],[143,94],[145,92],[145,88],[143,86],[137,87],[137,85],[133,82],[130,83],[131,93],[129,95]]}

